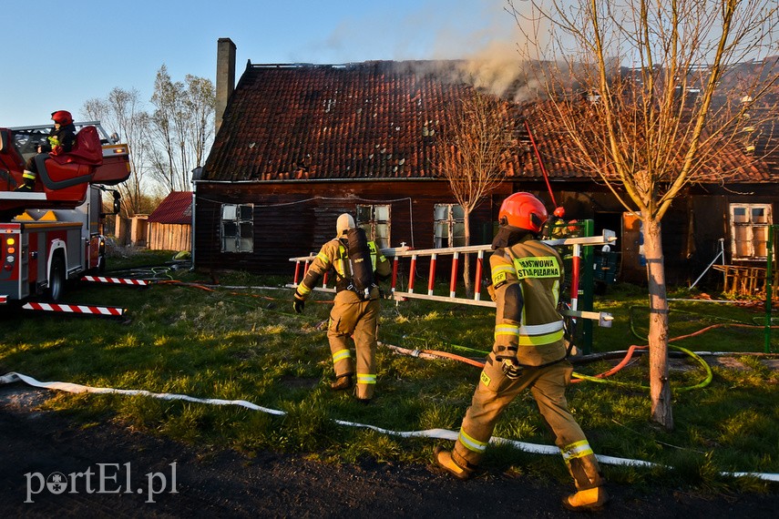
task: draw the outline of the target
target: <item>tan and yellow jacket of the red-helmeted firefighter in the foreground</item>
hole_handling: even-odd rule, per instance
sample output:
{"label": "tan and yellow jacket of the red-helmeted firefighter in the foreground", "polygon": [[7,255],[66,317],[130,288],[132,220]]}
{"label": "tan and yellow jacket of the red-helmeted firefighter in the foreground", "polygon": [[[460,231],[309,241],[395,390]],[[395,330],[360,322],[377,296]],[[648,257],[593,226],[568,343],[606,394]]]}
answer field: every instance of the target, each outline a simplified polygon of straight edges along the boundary
{"label": "tan and yellow jacket of the red-helmeted firefighter in the foreground", "polygon": [[524,366],[564,359],[563,320],[557,310],[564,271],[558,251],[528,235],[496,249],[489,265],[497,303],[496,356],[516,354]]}

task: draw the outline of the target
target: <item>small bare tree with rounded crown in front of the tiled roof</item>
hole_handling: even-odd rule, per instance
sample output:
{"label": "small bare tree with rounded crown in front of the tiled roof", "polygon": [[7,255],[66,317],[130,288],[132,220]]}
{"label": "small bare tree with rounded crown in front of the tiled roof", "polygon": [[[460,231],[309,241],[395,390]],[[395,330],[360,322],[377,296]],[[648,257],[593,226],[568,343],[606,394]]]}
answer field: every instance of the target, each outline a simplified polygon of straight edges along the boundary
{"label": "small bare tree with rounded crown in front of the tiled roof", "polygon": [[[505,176],[507,154],[514,143],[509,105],[495,96],[473,90],[463,97],[439,146],[440,173],[463,209],[465,245],[470,245],[470,214]],[[466,292],[472,295],[470,262],[463,261]],[[479,282],[479,280],[477,280]]]}

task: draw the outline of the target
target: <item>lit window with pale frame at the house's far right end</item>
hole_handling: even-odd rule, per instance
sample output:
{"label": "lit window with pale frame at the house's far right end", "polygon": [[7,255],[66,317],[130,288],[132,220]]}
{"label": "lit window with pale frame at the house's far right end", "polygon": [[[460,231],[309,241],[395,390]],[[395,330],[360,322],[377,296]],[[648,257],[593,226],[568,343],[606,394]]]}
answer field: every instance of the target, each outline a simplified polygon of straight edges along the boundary
{"label": "lit window with pale frame at the house's far right end", "polygon": [[770,204],[731,204],[733,260],[765,260],[771,222]]}

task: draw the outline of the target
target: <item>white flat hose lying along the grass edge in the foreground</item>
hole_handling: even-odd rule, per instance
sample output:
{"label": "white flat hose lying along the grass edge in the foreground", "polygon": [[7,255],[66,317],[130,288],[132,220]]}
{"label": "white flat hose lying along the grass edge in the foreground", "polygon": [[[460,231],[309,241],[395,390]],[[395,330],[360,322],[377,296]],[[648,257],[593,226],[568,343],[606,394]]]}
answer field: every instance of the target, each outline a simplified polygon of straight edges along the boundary
{"label": "white flat hose lying along the grass edge in the foreground", "polygon": [[[24,375],[22,373],[17,373],[15,371],[11,371],[9,373],[6,373],[3,376],[0,376],[0,384],[7,384],[12,382],[25,382],[27,385],[31,385],[37,388],[58,390],[64,392],[114,393],[114,394],[126,394],[130,396],[141,395],[141,396],[149,396],[151,398],[158,398],[160,400],[183,400],[186,402],[208,403],[211,405],[238,405],[241,407],[245,407],[247,409],[251,409],[252,411],[267,412],[269,414],[275,414],[275,415],[286,414],[286,412],[279,411],[276,409],[270,409],[267,407],[262,407],[261,405],[257,405],[255,403],[251,403],[245,400],[222,400],[218,398],[197,398],[186,394],[177,394],[177,393],[169,393],[169,392],[148,392],[145,390],[96,388],[96,387],[85,386],[82,384],[76,384],[72,382],[39,382],[30,376]],[[390,434],[393,436],[402,436],[404,438],[425,437],[425,438],[436,438],[438,440],[451,440],[451,441],[455,441],[457,439],[457,432],[449,431],[448,429],[427,429],[425,431],[392,431],[389,429],[383,429],[381,427],[376,427],[375,425],[367,425],[364,423],[344,422],[343,420],[334,420],[333,422],[338,423],[339,425],[347,425],[349,427],[363,427],[364,429],[371,429],[375,432],[381,432],[383,434]],[[507,440],[506,438],[498,438],[497,436],[493,436],[490,439],[490,443],[509,444],[527,453],[536,453],[536,454],[559,454],[560,453],[559,449],[552,445],[539,445],[538,443],[518,442],[517,440]],[[657,466],[656,463],[644,462],[642,460],[616,458],[614,456],[604,456],[602,454],[597,454],[596,456],[600,463],[609,464],[609,465],[630,465],[630,466],[647,467],[647,468]],[[766,481],[779,482],[779,473],[723,473],[723,475],[731,476],[731,477],[749,476],[749,477],[755,477]]]}

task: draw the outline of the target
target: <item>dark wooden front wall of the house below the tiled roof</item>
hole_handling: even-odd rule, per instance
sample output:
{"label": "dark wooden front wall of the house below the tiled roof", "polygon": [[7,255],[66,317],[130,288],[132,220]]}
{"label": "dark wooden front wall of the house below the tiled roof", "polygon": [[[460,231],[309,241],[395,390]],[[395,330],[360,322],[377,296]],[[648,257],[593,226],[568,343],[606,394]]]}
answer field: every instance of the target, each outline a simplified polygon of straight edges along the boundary
{"label": "dark wooden front wall of the house below the tiled roof", "polygon": [[[593,219],[596,234],[602,229],[617,233],[612,247],[620,251],[625,229],[624,209],[606,189],[593,184],[558,182],[552,185],[555,201],[566,209],[567,219]],[[743,187],[742,187],[743,188]],[[552,206],[541,182],[507,183],[483,202],[471,216],[472,244],[491,239],[500,203],[508,194],[528,190]],[[724,238],[730,248],[729,204],[774,203],[777,188],[761,188],[762,194],[743,188],[743,194],[724,189],[697,188],[678,198],[662,220],[663,253],[667,282],[689,285],[712,261]],[[254,253],[220,252],[220,205],[254,204]],[[445,181],[319,181],[252,184],[201,183],[197,188],[195,266],[199,270],[237,269],[290,274],[290,258],[318,251],[335,234],[335,220],[343,212],[355,213],[357,205],[391,206],[391,246],[402,242],[415,249],[433,248],[434,206],[456,203]],[[637,244],[633,247],[637,250]],[[730,260],[728,253],[727,260]],[[420,271],[426,269],[420,263]],[[436,269],[448,275],[446,264]],[[635,256],[621,256],[620,280],[646,283],[646,270]]]}

